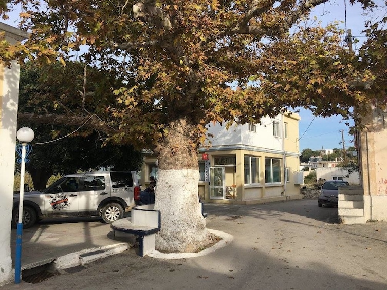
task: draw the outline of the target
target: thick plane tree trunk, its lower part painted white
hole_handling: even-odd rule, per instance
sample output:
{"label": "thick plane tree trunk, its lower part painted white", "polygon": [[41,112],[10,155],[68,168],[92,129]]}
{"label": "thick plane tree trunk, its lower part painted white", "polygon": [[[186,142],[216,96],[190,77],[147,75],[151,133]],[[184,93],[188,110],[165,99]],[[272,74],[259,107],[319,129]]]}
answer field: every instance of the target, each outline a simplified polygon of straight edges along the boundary
{"label": "thick plane tree trunk, its lower part painted white", "polygon": [[155,209],[161,211],[161,230],[156,235],[156,249],[161,252],[195,252],[213,241],[201,215],[198,159],[190,144],[191,129],[184,120],[174,122],[157,148]]}

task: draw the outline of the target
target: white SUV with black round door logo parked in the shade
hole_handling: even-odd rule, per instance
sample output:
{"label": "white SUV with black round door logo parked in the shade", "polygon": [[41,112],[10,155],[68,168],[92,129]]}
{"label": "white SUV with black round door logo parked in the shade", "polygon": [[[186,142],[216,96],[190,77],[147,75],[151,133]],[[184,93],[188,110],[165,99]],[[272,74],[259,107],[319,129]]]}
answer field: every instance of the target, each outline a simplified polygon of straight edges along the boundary
{"label": "white SUV with black round door logo parked in the shade", "polygon": [[[24,193],[23,227],[38,219],[101,216],[106,223],[123,217],[126,207],[140,198],[134,171],[98,171],[65,175],[41,191]],[[13,197],[12,226],[19,216],[19,194]]]}

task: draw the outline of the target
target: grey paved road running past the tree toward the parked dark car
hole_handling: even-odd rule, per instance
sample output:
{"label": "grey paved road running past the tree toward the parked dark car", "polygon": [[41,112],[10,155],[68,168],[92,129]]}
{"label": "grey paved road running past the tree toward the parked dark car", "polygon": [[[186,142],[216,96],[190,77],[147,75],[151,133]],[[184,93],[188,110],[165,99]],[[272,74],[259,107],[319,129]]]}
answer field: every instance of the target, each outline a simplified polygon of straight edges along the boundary
{"label": "grey paved road running past the tree toward the parked dark car", "polygon": [[234,236],[211,254],[163,260],[130,249],[76,273],[0,289],[387,289],[386,222],[336,224],[337,208],[316,200],[205,208],[208,228]]}

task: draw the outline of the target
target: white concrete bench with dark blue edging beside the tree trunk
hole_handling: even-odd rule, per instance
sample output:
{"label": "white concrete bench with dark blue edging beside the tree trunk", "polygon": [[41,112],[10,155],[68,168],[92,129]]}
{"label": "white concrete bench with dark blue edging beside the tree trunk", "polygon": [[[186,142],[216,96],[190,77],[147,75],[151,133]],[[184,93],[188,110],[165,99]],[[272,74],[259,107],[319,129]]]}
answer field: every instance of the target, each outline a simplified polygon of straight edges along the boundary
{"label": "white concrete bench with dark blue edging beside the tree trunk", "polygon": [[139,236],[138,255],[141,257],[155,250],[156,233],[161,229],[160,211],[153,208],[154,204],[137,205],[132,208],[130,218],[110,224],[115,237]]}

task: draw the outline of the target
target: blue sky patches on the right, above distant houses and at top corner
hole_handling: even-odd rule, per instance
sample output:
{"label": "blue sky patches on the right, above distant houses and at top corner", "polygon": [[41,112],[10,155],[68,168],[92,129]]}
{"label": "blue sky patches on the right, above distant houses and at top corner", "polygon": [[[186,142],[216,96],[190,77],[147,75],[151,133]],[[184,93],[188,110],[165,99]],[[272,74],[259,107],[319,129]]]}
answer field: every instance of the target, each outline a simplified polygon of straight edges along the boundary
{"label": "blue sky patches on the right, above distant houses and at top corner", "polygon": [[[318,17],[322,24],[327,24],[332,21],[342,21],[340,28],[345,30],[345,15],[346,15],[346,27],[351,29],[351,34],[359,40],[358,44],[354,44],[353,48],[356,49],[363,43],[366,38],[361,33],[364,30],[364,23],[370,19],[370,15],[362,15],[363,10],[359,4],[351,5],[346,0],[346,9],[344,1],[341,0],[336,4],[325,4],[324,6],[316,7],[314,15]],[[375,0],[376,3],[383,4],[381,0]],[[346,10],[346,11],[345,11]],[[323,12],[325,11],[325,14]],[[378,11],[373,17],[385,16],[386,11]],[[313,150],[317,149],[333,149],[343,148],[342,134],[340,130],[344,130],[344,143],[345,147],[354,146],[353,136],[348,134],[349,128],[345,125],[345,122],[340,123],[341,117],[321,118],[314,117],[309,110],[300,111],[301,121],[300,126],[300,151],[306,148]]]}

